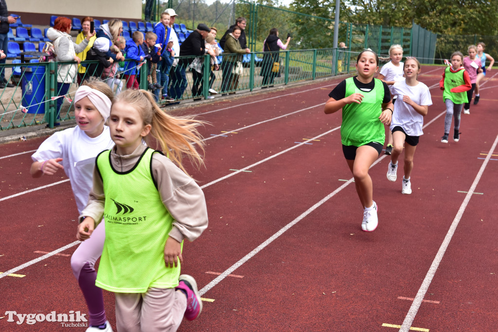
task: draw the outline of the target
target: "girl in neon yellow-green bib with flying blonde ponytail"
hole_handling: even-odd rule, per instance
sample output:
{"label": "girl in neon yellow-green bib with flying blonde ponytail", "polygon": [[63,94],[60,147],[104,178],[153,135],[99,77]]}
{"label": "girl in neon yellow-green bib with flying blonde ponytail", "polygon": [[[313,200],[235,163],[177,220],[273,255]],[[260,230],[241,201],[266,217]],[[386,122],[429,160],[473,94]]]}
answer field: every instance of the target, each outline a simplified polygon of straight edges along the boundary
{"label": "girl in neon yellow-green bib with flying blonde ponytail", "polygon": [[[202,311],[195,279],[180,275],[183,239],[193,241],[208,225],[204,194],[181,164],[182,154],[202,163],[194,148],[202,147],[201,123],[167,115],[144,90],[126,90],[113,103],[116,145],[97,157],[77,237],[91,239],[105,217],[96,284],[115,293],[118,331],[176,331],[184,316],[193,320]],[[160,144],[169,159],[142,138]]]}

